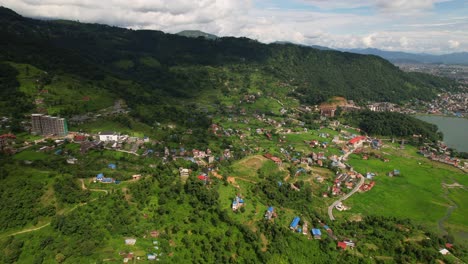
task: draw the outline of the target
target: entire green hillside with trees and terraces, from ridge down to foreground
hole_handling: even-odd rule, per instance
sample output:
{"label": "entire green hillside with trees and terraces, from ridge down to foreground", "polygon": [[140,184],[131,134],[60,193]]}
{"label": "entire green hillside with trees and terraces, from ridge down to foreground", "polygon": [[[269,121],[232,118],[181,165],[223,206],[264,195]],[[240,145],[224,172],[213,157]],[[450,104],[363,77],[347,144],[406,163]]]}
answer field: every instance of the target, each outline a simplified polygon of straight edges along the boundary
{"label": "entire green hillside with trees and terraces, from ridge down to foreground", "polygon": [[[455,87],[375,56],[0,7],[0,134],[16,135],[0,152],[0,263],[467,262],[466,172],[388,138],[334,165],[360,133],[423,144],[438,139],[434,126],[365,111],[336,124],[314,110],[335,96],[402,103]],[[86,135],[31,135],[36,112]],[[129,137],[101,144],[102,131]],[[359,189],[349,166],[376,185],[332,220],[329,206]],[[350,178],[338,188],[340,173]],[[305,234],[291,230],[295,217]]]}

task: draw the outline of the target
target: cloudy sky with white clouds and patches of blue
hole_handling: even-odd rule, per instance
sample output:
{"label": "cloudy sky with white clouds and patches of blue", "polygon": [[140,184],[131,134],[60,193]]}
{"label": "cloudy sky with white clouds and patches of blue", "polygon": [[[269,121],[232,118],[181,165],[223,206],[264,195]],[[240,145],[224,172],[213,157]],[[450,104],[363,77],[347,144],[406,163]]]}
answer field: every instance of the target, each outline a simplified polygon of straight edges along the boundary
{"label": "cloudy sky with white clouds and patches of blue", "polygon": [[468,51],[468,0],[0,0],[35,18],[167,33],[201,30],[264,43]]}

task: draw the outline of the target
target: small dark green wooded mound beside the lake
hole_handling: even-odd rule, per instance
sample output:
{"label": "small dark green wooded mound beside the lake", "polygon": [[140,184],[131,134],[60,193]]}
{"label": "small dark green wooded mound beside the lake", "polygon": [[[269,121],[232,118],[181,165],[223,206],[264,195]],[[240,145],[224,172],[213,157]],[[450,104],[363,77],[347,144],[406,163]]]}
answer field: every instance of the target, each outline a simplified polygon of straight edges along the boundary
{"label": "small dark green wooded mound beside the lake", "polygon": [[409,115],[394,112],[373,112],[369,110],[352,112],[345,115],[350,124],[359,127],[369,135],[391,137],[413,137],[435,142],[442,139],[437,126]]}

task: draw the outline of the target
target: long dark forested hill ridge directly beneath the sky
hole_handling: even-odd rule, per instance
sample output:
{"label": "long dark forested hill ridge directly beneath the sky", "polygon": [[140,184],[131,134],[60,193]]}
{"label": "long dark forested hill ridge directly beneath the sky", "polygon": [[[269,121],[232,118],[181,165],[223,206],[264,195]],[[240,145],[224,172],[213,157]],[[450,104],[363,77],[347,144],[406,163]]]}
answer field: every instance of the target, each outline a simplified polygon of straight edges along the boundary
{"label": "long dark forested hill ridge directly beneath the sky", "polygon": [[[262,44],[247,38],[187,38],[152,30],[130,30],[73,21],[35,20],[0,8],[0,61],[27,63],[48,72],[88,80],[112,76],[132,85],[111,92],[131,106],[195,98],[229,82],[230,73],[259,72],[286,83],[290,95],[316,104],[331,96],[357,102],[428,100],[451,81],[408,74],[376,56],[325,51],[298,45]],[[221,69],[228,69],[223,71]],[[208,74],[206,71],[210,71]],[[270,87],[269,89],[274,89]],[[274,91],[273,91],[274,92]]]}

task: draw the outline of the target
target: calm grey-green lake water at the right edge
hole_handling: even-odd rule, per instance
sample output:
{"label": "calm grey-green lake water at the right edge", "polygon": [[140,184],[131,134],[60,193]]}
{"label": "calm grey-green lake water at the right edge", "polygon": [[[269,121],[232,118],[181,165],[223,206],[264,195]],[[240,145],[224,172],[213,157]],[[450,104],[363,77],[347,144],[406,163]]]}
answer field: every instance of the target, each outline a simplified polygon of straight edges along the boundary
{"label": "calm grey-green lake water at the right edge", "polygon": [[444,133],[444,142],[447,146],[458,151],[468,152],[468,119],[417,115],[418,119],[435,124]]}

